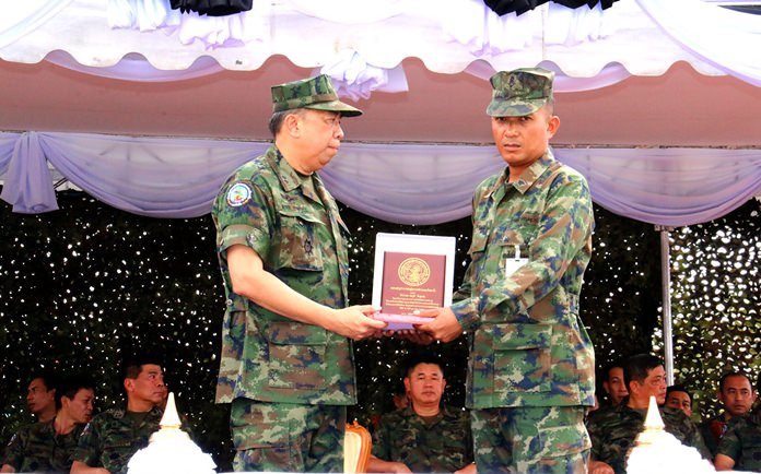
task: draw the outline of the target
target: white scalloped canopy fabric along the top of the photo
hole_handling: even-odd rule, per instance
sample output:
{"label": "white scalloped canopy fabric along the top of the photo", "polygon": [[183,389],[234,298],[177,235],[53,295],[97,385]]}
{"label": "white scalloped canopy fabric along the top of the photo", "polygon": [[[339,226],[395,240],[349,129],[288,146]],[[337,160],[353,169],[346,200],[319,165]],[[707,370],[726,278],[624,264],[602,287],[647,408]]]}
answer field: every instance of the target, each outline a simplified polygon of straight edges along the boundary
{"label": "white scalloped canopy fabric along the top of the photo", "polygon": [[[551,62],[573,78],[593,78],[614,63],[632,74],[656,75],[677,61],[705,74],[726,73],[667,35],[636,0],[605,11],[547,3],[504,17],[482,0],[445,7],[437,0],[331,0],[319,9],[304,0],[255,1],[249,12],[221,21],[180,15],[178,25],[165,9],[167,0],[56,1],[66,7],[42,23],[19,19],[15,26],[27,34],[4,47],[0,43],[0,58],[33,63],[63,50],[83,66],[109,67],[137,54],[157,69],[182,70],[210,56],[224,69],[253,70],[273,55],[321,68],[352,50],[375,68],[390,70],[414,57],[441,73],[461,72],[477,60],[495,70]],[[707,42],[712,31],[701,34]],[[749,51],[746,44],[733,47]]]}

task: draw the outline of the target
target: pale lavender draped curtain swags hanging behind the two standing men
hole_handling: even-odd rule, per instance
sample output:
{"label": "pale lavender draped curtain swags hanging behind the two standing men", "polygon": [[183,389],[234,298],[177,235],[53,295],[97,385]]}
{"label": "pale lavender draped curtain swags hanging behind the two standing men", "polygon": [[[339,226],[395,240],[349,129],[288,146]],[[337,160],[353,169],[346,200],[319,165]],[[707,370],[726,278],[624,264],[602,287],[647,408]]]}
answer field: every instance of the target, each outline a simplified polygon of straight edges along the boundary
{"label": "pale lavender draped curtain swags hanging behind the two standing men", "polygon": [[[57,209],[49,162],[115,208],[155,217],[206,214],[224,179],[268,143],[0,133],[1,198],[14,211]],[[761,193],[761,150],[557,149],[593,199],[653,224],[707,222]],[[437,224],[467,216],[478,182],[503,168],[492,146],[344,143],[320,175],[336,198],[371,216]]]}

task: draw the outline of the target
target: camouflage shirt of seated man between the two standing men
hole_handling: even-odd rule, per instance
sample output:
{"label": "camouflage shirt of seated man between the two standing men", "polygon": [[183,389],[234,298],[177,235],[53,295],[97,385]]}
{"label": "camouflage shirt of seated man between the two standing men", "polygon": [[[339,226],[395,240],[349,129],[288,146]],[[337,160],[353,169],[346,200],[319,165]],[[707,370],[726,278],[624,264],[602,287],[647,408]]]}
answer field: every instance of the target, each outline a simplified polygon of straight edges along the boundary
{"label": "camouflage shirt of seated man between the two standing men", "polygon": [[373,455],[417,473],[455,472],[473,462],[470,416],[448,406],[430,419],[412,406],[387,413],[373,434]]}

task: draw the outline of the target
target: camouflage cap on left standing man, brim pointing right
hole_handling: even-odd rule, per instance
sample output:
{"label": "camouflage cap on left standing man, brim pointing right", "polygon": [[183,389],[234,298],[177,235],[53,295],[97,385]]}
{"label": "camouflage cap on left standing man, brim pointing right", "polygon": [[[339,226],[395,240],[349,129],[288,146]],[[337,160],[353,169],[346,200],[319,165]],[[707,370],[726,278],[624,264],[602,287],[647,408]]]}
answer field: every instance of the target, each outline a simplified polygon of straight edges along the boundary
{"label": "camouflage cap on left standing man, brim pointing right", "polygon": [[338,94],[327,74],[272,86],[273,112],[296,108],[340,111],[344,117],[362,115],[359,108],[338,99]]}

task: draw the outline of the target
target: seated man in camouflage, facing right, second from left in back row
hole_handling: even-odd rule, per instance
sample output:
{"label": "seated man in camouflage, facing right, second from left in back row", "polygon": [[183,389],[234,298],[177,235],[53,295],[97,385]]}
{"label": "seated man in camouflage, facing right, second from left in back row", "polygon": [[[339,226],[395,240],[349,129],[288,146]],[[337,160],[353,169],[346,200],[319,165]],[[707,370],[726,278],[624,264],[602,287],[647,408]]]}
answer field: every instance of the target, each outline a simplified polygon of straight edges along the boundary
{"label": "seated man in camouflage, facing right, second from left in back row", "polygon": [[77,440],[93,417],[94,399],[93,383],[87,379],[72,377],[59,384],[56,416],[16,432],[0,472],[68,473]]}

